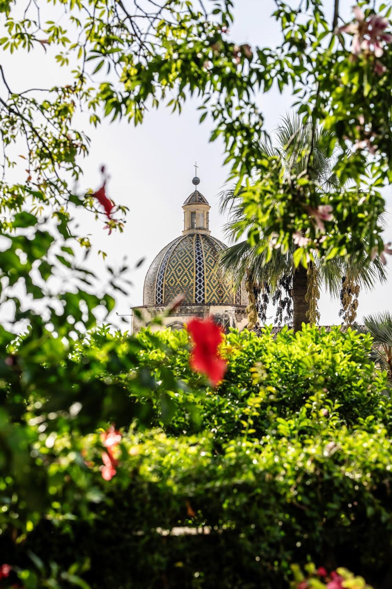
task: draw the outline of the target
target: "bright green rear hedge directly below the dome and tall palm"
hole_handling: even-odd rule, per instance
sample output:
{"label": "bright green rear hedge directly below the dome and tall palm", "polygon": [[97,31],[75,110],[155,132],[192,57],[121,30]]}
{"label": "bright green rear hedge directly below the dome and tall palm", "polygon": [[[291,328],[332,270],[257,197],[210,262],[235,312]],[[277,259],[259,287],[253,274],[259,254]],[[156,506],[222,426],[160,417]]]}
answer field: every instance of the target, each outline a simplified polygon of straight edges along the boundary
{"label": "bright green rear hedge directly below the dome and tall palm", "polygon": [[[146,336],[148,333],[142,332],[138,339],[146,343]],[[392,433],[390,404],[380,396],[385,378],[375,373],[368,357],[370,336],[350,329],[344,333],[339,327],[326,331],[315,326],[306,326],[296,336],[287,329],[276,337],[270,328],[261,336],[247,330],[231,332],[222,346],[222,355],[228,360],[225,379],[216,391],[207,387],[202,394],[203,380],[188,365],[187,334],[165,331],[158,337],[165,350],[151,348],[150,344],[150,353],[142,352],[141,364],[155,366],[158,379],[162,366],[170,368],[192,388],[189,395],[171,396],[182,411],[175,412],[168,422],[159,419],[160,405],[156,405],[155,425],[170,434],[212,430],[217,442],[242,435],[248,400],[260,395],[263,403],[251,428],[255,436],[270,429],[275,435],[279,423],[279,429],[287,434],[281,419],[290,421],[305,408],[303,415],[308,415],[314,395],[323,413],[328,411],[324,421],[366,426],[367,420],[381,419]],[[193,392],[195,388],[198,395]]]}

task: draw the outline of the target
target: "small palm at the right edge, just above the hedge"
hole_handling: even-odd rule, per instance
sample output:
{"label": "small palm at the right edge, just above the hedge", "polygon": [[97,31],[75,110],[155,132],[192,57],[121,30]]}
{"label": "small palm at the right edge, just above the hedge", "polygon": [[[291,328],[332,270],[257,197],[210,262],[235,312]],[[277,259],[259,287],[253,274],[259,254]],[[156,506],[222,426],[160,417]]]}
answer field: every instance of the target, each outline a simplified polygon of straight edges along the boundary
{"label": "small palm at the right edge, just above the hedge", "polygon": [[360,333],[370,333],[376,344],[373,349],[373,360],[387,371],[392,387],[392,315],[388,311],[364,317],[364,327],[356,326]]}

